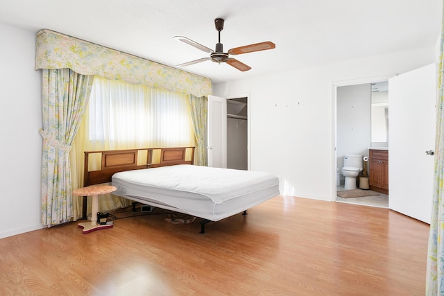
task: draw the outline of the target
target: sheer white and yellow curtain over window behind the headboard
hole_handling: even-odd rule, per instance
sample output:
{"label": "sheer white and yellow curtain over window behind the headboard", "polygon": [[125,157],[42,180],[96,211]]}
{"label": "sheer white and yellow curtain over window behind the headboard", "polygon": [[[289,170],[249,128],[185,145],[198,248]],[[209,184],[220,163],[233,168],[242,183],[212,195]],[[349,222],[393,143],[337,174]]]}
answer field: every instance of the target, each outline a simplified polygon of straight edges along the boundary
{"label": "sheer white and yellow curtain over window behind the headboard", "polygon": [[[84,151],[194,145],[186,95],[95,76],[87,111],[74,151],[71,150],[76,163],[73,189],[83,186]],[[128,200],[114,195],[99,199],[101,211],[128,204]],[[81,207],[82,200],[78,198],[77,218],[81,216]]]}

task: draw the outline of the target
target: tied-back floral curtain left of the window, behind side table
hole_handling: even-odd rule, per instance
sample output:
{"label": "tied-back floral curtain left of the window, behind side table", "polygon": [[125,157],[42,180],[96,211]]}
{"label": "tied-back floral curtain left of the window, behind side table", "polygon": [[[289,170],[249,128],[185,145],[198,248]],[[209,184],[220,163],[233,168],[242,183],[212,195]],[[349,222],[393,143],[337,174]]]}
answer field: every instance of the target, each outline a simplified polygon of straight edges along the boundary
{"label": "tied-back floral curtain left of the window, behind side table", "polygon": [[73,218],[69,151],[76,136],[94,76],[71,69],[42,71],[42,224]]}

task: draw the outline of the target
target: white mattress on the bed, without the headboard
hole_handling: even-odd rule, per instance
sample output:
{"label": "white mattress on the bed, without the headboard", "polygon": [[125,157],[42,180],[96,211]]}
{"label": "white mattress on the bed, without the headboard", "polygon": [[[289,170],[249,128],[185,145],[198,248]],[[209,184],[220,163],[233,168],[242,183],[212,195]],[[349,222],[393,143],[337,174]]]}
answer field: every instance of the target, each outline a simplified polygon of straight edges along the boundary
{"label": "white mattress on the bed, without the headboard", "polygon": [[280,194],[269,173],[187,164],[115,173],[112,185],[113,194],[212,221]]}

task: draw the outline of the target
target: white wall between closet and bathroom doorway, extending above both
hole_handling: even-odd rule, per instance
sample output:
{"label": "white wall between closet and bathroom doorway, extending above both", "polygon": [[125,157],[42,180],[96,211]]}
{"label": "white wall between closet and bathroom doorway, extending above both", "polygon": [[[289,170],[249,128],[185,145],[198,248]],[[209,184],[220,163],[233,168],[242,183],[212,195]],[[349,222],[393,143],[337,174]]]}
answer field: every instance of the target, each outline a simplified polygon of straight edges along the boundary
{"label": "white wall between closet and bathroom doorway, extending above both", "polygon": [[250,93],[252,170],[278,175],[284,195],[334,200],[335,85],[404,73],[434,59],[431,47],[221,82],[213,92]]}

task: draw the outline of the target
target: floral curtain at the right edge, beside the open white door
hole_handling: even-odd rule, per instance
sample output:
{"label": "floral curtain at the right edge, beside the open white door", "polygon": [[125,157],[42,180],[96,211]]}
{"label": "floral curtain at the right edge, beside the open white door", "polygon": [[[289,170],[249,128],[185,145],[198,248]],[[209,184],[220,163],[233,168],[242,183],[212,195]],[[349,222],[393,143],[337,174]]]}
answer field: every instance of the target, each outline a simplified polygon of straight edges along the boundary
{"label": "floral curtain at the right edge, beside the open white door", "polygon": [[444,295],[444,22],[438,61],[435,185],[427,254],[426,295]]}

